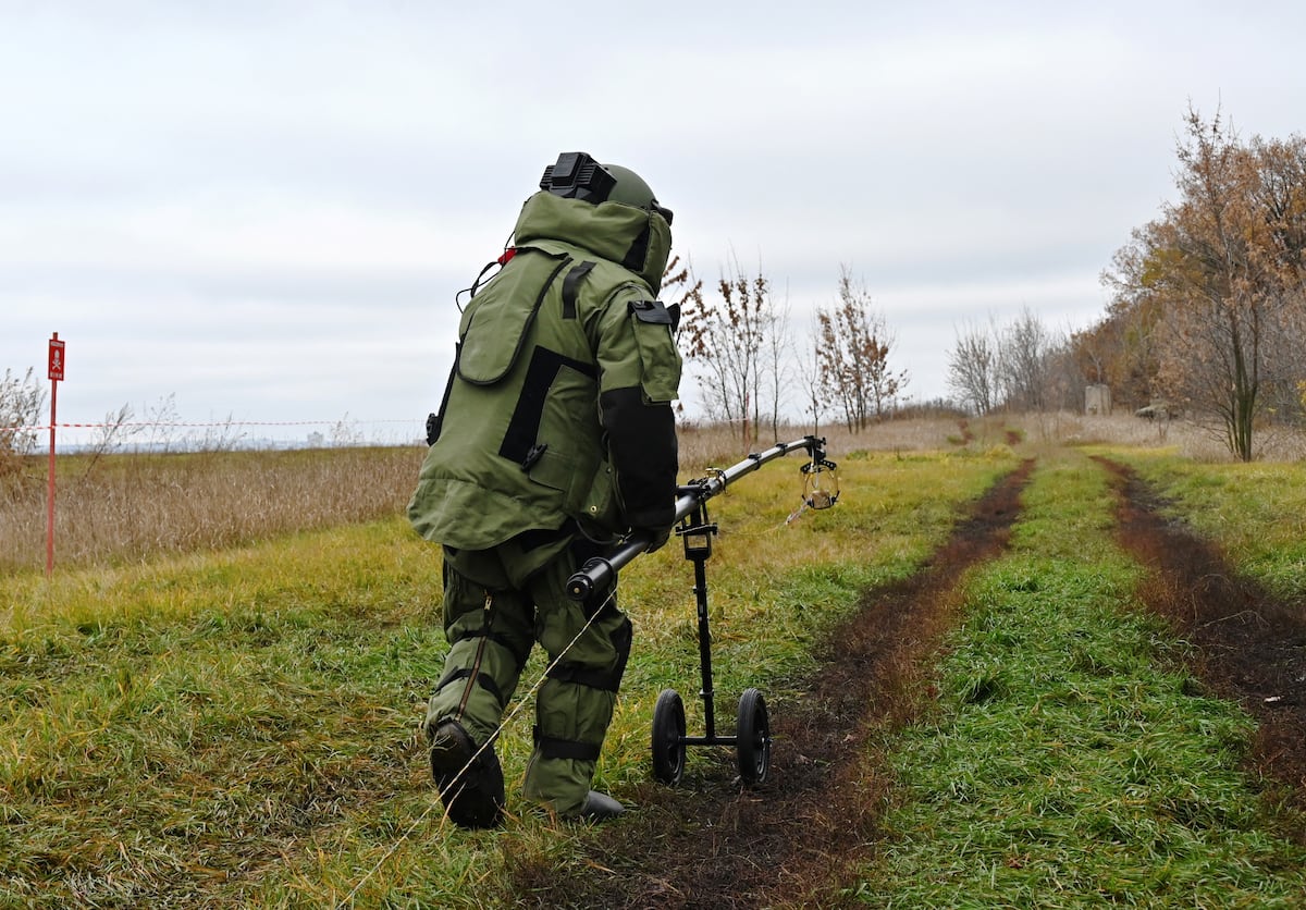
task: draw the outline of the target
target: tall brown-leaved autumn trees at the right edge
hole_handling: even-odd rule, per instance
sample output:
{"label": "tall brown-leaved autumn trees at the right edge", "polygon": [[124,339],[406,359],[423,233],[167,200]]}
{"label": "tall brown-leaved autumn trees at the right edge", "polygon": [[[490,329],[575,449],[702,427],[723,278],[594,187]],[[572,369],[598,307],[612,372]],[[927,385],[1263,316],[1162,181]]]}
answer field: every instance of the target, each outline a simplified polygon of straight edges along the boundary
{"label": "tall brown-leaved autumn trees at the right edge", "polygon": [[1208,418],[1235,457],[1258,422],[1299,424],[1306,377],[1306,140],[1242,141],[1188,110],[1178,198],[1104,273],[1081,366],[1124,398]]}

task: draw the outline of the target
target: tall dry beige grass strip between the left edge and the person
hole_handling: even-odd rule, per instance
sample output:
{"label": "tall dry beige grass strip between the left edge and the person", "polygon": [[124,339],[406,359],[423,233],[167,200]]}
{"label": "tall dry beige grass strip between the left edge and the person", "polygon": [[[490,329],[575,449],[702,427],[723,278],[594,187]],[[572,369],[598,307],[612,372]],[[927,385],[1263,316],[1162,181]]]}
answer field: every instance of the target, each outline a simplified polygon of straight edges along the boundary
{"label": "tall dry beige grass strip between the left edge and the person", "polygon": [[[55,559],[118,564],[392,516],[423,454],[402,447],[63,457]],[[34,475],[35,462],[29,483],[0,497],[0,573],[46,564],[44,484]]]}

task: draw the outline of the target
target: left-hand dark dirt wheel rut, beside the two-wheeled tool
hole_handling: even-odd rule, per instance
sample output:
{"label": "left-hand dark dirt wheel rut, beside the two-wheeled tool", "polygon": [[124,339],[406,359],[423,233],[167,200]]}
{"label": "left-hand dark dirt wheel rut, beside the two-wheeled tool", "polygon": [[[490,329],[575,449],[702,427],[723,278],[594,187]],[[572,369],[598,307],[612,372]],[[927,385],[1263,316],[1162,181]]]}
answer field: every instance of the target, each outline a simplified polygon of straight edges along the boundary
{"label": "left-hand dark dirt wheel rut, beside the two-wheeled tool", "polygon": [[773,709],[776,745],[761,787],[733,782],[730,755],[693,787],[645,785],[633,800],[639,824],[605,829],[589,870],[560,879],[524,862],[517,894],[542,907],[838,906],[845,870],[876,839],[889,782],[863,756],[913,715],[957,582],[1004,548],[1032,470],[1028,461],[995,484],[926,568],[865,595],[823,646],[802,700]]}

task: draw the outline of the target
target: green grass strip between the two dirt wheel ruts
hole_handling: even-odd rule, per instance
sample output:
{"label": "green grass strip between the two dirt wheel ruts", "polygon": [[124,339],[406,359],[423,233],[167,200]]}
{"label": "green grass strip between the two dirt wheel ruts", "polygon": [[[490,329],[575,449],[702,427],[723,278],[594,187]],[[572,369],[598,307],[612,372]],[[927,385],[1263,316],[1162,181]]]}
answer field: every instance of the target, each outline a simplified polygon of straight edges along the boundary
{"label": "green grass strip between the two dirt wheel ruts", "polygon": [[973,573],[939,702],[895,744],[871,906],[1301,906],[1306,851],[1238,770],[1252,725],[1135,611],[1105,474],[1042,467]]}

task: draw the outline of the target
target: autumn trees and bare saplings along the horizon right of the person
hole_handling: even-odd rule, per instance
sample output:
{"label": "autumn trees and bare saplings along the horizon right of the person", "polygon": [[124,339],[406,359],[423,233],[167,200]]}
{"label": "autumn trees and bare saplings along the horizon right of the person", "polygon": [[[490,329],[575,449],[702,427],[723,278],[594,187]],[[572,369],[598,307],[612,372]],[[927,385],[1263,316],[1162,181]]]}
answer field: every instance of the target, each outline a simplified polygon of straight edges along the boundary
{"label": "autumn trees and bare saplings along the horizon right of the person", "polygon": [[[1050,328],[1024,307],[1007,322],[955,326],[951,400],[970,414],[1079,410],[1105,385],[1132,410],[1209,422],[1232,454],[1254,457],[1264,422],[1306,410],[1306,140],[1245,142],[1217,114],[1190,110],[1177,140],[1174,201],[1102,273],[1111,299],[1093,325]],[[836,300],[806,338],[789,333],[763,270],[731,260],[714,294],[674,261],[666,286],[707,415],[759,432],[802,398],[804,416],[857,432],[892,416],[909,376],[865,282],[840,266]]]}

